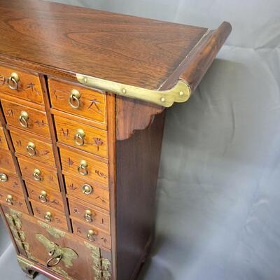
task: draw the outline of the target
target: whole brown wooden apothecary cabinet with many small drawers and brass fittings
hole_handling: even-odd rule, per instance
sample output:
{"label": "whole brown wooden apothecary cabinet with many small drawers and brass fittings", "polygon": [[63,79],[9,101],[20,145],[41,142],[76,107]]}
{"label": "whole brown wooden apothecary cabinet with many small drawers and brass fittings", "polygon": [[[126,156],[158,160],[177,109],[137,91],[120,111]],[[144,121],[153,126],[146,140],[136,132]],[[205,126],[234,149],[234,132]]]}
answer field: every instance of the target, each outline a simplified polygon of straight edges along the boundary
{"label": "whole brown wooden apothecary cabinet with many small drawers and brass fittings", "polygon": [[165,107],[230,34],[0,2],[0,209],[30,277],[132,280],[151,248]]}

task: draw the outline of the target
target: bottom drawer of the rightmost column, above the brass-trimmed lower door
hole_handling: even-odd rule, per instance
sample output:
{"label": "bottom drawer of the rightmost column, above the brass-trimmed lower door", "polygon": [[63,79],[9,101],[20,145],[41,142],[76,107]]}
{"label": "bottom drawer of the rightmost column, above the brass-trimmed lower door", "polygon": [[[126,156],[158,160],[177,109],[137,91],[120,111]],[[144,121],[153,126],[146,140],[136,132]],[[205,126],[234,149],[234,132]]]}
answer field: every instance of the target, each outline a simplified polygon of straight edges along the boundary
{"label": "bottom drawer of the rightmost column, above the brass-trimmed lower door", "polygon": [[73,233],[91,241],[97,246],[111,249],[111,236],[107,235],[103,230],[88,225],[87,223],[81,223],[74,219],[71,219],[73,225]]}

